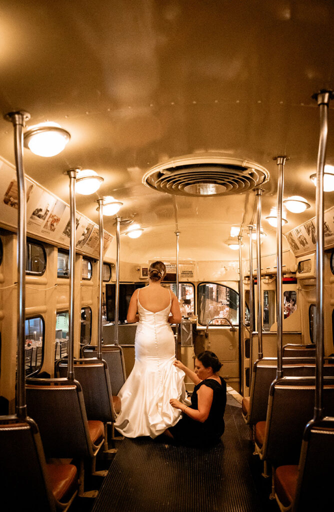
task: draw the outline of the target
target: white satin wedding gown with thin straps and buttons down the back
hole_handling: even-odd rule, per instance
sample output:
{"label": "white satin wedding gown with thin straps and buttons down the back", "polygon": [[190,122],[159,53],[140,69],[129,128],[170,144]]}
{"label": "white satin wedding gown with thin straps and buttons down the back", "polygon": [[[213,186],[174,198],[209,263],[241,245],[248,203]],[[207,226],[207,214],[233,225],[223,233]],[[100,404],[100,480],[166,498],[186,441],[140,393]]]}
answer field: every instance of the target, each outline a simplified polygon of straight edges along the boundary
{"label": "white satin wedding gown with thin straps and buttons down the back", "polygon": [[173,365],[175,338],[167,322],[172,300],[165,309],[152,313],[139,302],[139,324],[135,337],[135,364],[118,393],[121,399],[115,428],[126,437],[162,434],[174,426],[181,411],[171,398],[184,399],[184,372]]}

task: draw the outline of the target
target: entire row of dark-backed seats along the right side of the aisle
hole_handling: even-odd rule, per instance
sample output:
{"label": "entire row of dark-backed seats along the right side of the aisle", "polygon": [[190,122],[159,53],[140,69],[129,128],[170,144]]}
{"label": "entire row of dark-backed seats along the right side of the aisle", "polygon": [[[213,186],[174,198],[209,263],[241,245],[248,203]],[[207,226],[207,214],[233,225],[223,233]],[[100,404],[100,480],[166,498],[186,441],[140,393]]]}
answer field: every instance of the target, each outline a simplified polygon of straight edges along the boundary
{"label": "entire row of dark-backed seats along the right side of the aisle", "polygon": [[[264,476],[268,476],[267,465],[272,466],[273,490],[270,497],[276,497],[284,512],[317,510],[307,507],[312,500],[317,507],[327,500],[330,486],[326,487],[324,482],[328,483],[326,476],[332,473],[330,467],[334,457],[333,422],[329,418],[334,416],[334,358],[325,358],[323,366],[323,407],[328,418],[314,423],[310,420],[314,415],[316,392],[315,358],[303,357],[310,352],[298,347],[290,350],[298,351],[297,355],[302,356],[283,357],[284,377],[276,378],[276,358],[255,362],[251,393],[242,401],[242,414],[252,429],[255,453],[264,461]],[[318,441],[321,438],[323,446],[317,455],[314,446],[317,443],[318,447],[321,446]],[[305,482],[309,478],[307,475],[312,473],[312,464],[318,467],[313,471],[314,484],[308,488]],[[316,482],[323,493],[315,492]],[[306,501],[305,489],[308,490]]]}

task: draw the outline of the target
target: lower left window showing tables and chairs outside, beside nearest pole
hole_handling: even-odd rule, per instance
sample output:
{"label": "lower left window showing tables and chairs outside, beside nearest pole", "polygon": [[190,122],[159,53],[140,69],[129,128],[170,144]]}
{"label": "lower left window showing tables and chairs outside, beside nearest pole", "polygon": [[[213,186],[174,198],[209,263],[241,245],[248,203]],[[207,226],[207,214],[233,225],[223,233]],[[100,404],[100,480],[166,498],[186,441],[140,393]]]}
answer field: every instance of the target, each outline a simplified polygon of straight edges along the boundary
{"label": "lower left window showing tables and chairs outside, beside nearest pole", "polygon": [[25,369],[26,375],[39,372],[44,359],[44,318],[35,316],[25,320]]}

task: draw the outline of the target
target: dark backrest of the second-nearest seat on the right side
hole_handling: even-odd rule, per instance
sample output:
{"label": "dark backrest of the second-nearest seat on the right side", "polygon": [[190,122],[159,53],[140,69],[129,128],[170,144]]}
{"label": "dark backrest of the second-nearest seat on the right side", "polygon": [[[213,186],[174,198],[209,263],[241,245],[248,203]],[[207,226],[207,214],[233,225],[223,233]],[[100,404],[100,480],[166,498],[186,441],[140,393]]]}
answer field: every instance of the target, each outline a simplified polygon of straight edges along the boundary
{"label": "dark backrest of the second-nearest seat on the right side", "polygon": [[[270,387],[264,458],[274,466],[297,464],[305,425],[313,417],[315,377],[283,377]],[[334,414],[334,379],[324,377],[324,409]]]}

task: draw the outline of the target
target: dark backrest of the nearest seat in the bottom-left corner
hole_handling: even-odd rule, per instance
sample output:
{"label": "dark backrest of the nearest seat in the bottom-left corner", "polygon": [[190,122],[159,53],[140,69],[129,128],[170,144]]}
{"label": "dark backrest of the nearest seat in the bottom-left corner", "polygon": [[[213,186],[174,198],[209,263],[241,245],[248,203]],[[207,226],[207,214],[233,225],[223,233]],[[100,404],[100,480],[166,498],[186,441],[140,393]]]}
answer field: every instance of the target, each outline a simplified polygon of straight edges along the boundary
{"label": "dark backrest of the nearest seat in the bottom-left corner", "polygon": [[0,416],[0,445],[2,510],[55,512],[36,423],[30,418]]}

